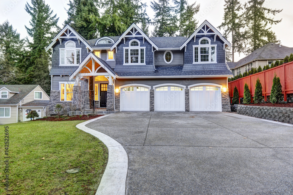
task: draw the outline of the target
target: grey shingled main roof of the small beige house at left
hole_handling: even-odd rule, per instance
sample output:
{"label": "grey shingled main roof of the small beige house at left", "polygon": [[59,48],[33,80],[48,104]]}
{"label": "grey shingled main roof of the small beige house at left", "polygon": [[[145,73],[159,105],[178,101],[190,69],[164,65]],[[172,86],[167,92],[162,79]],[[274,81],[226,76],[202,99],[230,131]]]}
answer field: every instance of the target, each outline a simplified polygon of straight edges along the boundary
{"label": "grey shingled main roof of the small beige house at left", "polygon": [[25,98],[30,92],[32,92],[36,87],[38,87],[38,85],[37,84],[35,85],[0,85],[0,89],[2,87],[5,87],[11,92],[18,92],[18,93],[14,94],[9,99],[0,99],[0,105],[16,105],[23,98]]}

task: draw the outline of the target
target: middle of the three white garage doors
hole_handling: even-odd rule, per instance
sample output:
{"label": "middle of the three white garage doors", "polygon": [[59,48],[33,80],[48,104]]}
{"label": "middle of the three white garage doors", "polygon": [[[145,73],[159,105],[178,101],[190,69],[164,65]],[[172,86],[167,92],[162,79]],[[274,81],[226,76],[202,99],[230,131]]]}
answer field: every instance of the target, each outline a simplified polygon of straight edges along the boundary
{"label": "middle of the three white garage doors", "polygon": [[155,89],[155,111],[185,111],[184,88],[176,86]]}

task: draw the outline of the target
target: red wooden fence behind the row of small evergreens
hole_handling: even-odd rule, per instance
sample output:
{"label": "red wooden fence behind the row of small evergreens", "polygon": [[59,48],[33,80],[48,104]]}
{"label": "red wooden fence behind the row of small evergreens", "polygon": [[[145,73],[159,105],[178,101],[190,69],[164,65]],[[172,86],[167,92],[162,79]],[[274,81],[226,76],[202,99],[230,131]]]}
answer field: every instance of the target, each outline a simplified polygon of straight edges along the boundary
{"label": "red wooden fence behind the row of small evergreens", "polygon": [[[255,83],[257,78],[259,78],[261,85],[263,87],[263,96],[265,96],[265,101],[267,101],[267,96],[271,94],[272,84],[274,74],[280,77],[282,84],[282,93],[284,94],[284,101],[287,101],[287,95],[293,93],[293,61],[279,65],[275,68],[270,68],[269,70],[262,71],[253,75],[249,75],[228,83],[230,97],[233,97],[234,87],[236,86],[239,92],[239,102],[240,98],[243,97],[244,85],[248,84],[251,92],[251,96],[254,96]],[[251,98],[252,100],[252,98]]]}

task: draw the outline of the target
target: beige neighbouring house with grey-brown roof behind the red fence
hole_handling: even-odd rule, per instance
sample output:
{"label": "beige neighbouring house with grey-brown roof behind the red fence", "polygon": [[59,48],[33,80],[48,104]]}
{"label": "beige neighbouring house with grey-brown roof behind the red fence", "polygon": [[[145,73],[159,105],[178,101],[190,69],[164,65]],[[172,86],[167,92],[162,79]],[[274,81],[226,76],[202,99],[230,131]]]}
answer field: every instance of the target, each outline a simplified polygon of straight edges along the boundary
{"label": "beige neighbouring house with grey-brown roof behind the red fence", "polygon": [[226,62],[226,64],[233,76],[240,73],[243,75],[246,71],[249,72],[251,68],[258,68],[259,66],[263,68],[265,65],[275,63],[276,60],[283,60],[286,56],[290,56],[291,53],[293,53],[293,48],[291,47],[268,43],[238,62]]}

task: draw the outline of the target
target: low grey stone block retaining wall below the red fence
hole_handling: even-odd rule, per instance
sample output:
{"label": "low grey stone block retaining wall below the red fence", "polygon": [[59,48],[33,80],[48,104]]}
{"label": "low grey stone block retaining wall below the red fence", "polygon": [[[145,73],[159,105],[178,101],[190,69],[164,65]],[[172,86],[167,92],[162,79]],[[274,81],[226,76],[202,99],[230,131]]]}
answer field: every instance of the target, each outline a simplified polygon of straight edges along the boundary
{"label": "low grey stone block retaining wall below the red fence", "polygon": [[293,108],[238,105],[237,114],[293,124]]}

